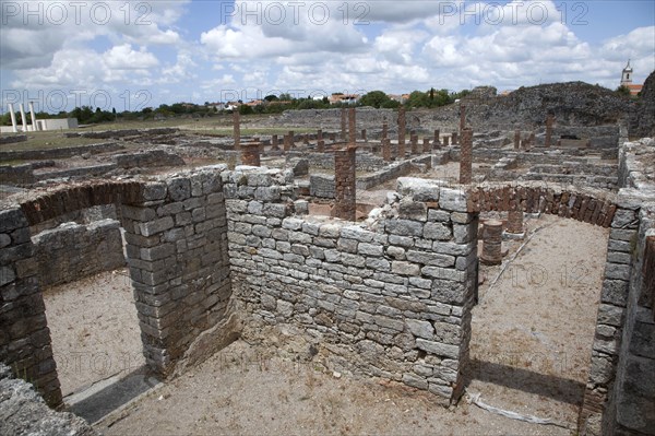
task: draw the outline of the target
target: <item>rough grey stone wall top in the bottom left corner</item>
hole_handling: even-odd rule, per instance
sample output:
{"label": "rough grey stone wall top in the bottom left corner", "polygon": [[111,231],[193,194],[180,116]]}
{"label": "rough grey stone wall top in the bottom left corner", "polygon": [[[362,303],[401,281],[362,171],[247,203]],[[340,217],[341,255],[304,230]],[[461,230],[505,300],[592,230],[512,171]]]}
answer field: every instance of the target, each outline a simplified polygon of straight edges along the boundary
{"label": "rough grey stone wall top in the bottom left corner", "polygon": [[0,363],[0,434],[95,436],[86,421],[72,413],[56,412],[24,380],[13,378],[11,369]]}

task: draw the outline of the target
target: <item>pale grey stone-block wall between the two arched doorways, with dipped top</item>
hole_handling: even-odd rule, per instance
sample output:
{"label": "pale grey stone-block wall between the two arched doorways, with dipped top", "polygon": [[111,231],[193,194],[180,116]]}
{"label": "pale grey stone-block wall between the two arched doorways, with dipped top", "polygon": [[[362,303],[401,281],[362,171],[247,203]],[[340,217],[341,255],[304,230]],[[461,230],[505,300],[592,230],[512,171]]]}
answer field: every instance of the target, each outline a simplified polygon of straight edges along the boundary
{"label": "pale grey stone-block wall between the two arched doorways, with dipped top", "polygon": [[233,286],[254,322],[299,326],[337,350],[334,365],[448,402],[463,387],[477,220],[462,191],[404,180],[362,226],[293,216],[283,173],[228,173]]}

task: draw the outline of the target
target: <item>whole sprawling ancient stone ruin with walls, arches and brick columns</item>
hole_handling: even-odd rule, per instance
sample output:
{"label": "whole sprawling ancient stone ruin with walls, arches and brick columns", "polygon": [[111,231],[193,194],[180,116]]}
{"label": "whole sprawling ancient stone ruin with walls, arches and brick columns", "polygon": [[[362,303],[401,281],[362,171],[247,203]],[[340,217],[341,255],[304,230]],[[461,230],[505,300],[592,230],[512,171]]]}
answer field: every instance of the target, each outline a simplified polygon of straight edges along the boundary
{"label": "whole sprawling ancient stone ruin with walls, arches and brick columns", "polygon": [[[44,160],[82,152],[59,149],[3,166],[17,193],[0,212],[0,360],[60,405],[43,288],[127,264],[145,362],[163,379],[245,326],[291,325],[353,373],[455,404],[480,261],[502,263],[524,216],[552,214],[609,228],[577,428],[652,434],[653,139],[557,111],[537,128],[486,129],[469,102],[448,121],[421,121],[406,148],[410,114],[334,110],[283,148],[277,134],[241,137],[235,116],[234,138],[131,131],[152,150],[129,158],[109,132],[112,142],[83,151],[94,165],[49,170],[58,164]],[[186,165],[192,155],[213,163]],[[420,177],[450,163],[453,177]],[[389,182],[379,201],[360,198]]]}

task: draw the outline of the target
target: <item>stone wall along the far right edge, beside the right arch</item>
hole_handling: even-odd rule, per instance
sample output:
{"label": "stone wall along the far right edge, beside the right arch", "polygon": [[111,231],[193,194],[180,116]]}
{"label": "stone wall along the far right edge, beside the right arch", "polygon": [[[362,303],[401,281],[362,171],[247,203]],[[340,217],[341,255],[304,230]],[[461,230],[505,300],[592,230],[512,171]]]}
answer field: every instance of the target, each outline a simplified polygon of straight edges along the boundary
{"label": "stone wall along the far right edge, beside the right arch", "polygon": [[[655,238],[654,143],[642,139],[624,143],[620,150],[624,186],[620,201],[632,211],[620,232],[623,256],[632,268],[627,271],[629,281],[619,288],[623,328],[616,352],[616,381],[604,416],[605,434],[655,434],[655,270],[652,264],[644,266],[646,238]],[[651,241],[650,251],[653,246]]]}

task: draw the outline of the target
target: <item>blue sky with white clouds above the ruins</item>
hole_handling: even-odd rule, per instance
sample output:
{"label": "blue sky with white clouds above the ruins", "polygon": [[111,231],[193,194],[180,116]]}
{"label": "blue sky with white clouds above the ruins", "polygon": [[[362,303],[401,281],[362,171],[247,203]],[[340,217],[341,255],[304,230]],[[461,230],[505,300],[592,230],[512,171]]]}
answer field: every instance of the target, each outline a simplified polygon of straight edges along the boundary
{"label": "blue sky with white clouds above the ruins", "polygon": [[0,113],[381,90],[499,91],[655,70],[653,1],[0,0]]}

